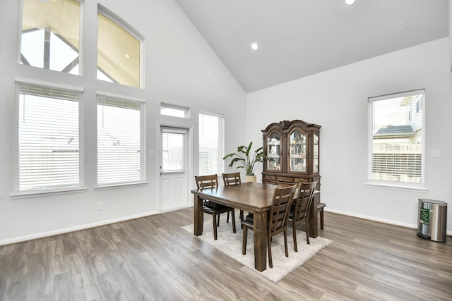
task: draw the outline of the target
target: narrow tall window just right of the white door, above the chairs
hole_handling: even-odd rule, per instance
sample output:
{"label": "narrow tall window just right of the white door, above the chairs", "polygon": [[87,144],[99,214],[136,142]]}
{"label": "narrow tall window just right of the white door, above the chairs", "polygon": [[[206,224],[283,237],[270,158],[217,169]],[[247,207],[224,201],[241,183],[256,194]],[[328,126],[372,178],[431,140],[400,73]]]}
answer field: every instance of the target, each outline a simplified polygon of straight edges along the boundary
{"label": "narrow tall window just right of the white door, above the chairs", "polygon": [[199,114],[199,175],[222,173],[224,117]]}

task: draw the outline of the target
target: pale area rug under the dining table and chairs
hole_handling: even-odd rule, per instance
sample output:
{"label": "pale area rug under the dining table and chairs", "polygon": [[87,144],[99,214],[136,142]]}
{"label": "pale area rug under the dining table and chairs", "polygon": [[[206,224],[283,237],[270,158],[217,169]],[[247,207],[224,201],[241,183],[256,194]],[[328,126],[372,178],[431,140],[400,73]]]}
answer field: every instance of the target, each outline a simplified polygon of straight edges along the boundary
{"label": "pale area rug under the dining table and chairs", "polygon": [[[284,235],[280,233],[273,237],[271,250],[273,259],[273,268],[268,266],[263,272],[254,269],[254,240],[253,231],[248,230],[248,243],[246,245],[246,255],[242,255],[242,229],[240,228],[240,220],[236,218],[237,233],[232,233],[232,224],[226,223],[225,216],[220,219],[220,227],[218,227],[218,240],[213,239],[213,226],[210,216],[205,216],[203,235],[198,236],[199,239],[207,242],[221,252],[236,259],[238,262],[248,266],[249,269],[256,271],[256,273],[268,278],[274,283],[278,283],[287,274],[289,274],[298,266],[301,266],[309,258],[313,257],[316,252],[319,252],[323,247],[329,245],[333,240],[326,238],[309,238],[310,244],[306,242],[306,233],[297,230],[298,252],[294,250],[294,242],[292,238],[292,228],[287,229],[287,245],[289,249],[289,257],[285,257],[284,252]],[[182,227],[184,230],[193,234],[193,224]],[[268,253],[267,253],[268,254]],[[268,257],[268,256],[267,256]]]}

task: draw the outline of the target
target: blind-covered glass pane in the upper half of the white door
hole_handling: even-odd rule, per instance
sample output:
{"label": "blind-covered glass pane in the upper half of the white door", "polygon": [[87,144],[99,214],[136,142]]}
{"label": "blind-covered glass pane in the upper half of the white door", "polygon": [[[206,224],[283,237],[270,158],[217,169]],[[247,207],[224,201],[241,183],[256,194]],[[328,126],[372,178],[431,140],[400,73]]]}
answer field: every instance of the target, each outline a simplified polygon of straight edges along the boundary
{"label": "blind-covered glass pane in the upper half of the white door", "polygon": [[165,128],[162,131],[162,172],[183,172],[186,166],[186,134]]}

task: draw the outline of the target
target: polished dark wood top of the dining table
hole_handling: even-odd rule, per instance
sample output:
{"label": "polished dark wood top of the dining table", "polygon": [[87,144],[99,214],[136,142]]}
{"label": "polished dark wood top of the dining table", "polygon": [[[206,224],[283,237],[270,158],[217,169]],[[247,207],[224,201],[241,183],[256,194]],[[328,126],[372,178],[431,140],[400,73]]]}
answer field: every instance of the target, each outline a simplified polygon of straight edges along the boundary
{"label": "polished dark wood top of the dining table", "polygon": [[270,210],[273,190],[277,187],[278,185],[273,184],[247,182],[240,185],[191,190],[191,193],[244,211],[262,212]]}

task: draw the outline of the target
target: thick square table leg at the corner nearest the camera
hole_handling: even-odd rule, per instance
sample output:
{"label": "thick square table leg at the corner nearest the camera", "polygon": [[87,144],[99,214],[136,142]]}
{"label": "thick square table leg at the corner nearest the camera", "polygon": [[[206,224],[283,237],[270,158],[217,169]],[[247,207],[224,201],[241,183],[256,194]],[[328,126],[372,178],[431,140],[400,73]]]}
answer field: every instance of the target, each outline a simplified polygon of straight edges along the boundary
{"label": "thick square table leg at the corner nearest the camera", "polygon": [[267,268],[267,212],[254,212],[254,269]]}

